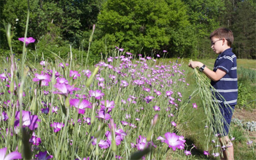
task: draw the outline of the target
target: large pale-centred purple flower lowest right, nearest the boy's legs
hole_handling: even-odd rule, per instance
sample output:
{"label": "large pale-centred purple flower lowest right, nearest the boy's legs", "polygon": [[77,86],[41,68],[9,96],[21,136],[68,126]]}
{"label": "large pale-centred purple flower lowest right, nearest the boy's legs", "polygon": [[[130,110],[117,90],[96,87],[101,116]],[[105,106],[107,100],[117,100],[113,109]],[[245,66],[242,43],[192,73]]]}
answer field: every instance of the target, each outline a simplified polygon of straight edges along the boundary
{"label": "large pale-centred purple flower lowest right, nearest the boy's legs", "polygon": [[164,143],[166,143],[170,148],[172,147],[172,150],[176,150],[176,148],[184,148],[185,140],[180,138],[180,136],[177,136],[174,132],[166,132],[164,136],[166,138],[166,140],[164,140]]}

